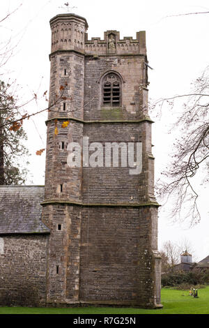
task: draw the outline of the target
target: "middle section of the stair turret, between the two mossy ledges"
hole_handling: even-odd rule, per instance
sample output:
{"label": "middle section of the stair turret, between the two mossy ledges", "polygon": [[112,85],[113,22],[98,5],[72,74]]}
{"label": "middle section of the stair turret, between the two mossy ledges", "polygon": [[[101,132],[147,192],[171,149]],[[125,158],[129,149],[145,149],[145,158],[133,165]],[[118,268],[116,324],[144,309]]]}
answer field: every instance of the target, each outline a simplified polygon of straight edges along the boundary
{"label": "middle section of the stair turret, between the two mossy ledges", "polygon": [[[61,128],[63,120],[56,125],[47,124],[47,156],[45,171],[45,200],[82,201],[82,167],[68,167],[68,144],[82,145],[83,124],[70,121],[67,128]],[[57,126],[59,134],[54,134]],[[63,149],[62,149],[63,143]],[[61,191],[62,185],[62,191]]]}

